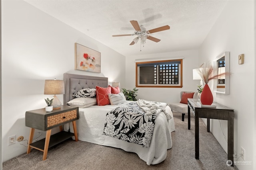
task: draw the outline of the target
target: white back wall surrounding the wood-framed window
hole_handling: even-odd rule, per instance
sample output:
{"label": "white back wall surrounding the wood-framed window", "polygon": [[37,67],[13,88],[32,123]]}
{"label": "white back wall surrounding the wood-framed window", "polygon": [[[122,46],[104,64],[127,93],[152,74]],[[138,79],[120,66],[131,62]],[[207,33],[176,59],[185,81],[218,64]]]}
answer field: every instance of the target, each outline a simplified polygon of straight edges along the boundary
{"label": "white back wall surrounding the wood-framed window", "polygon": [[198,68],[198,51],[176,51],[171,53],[160,53],[150,55],[139,55],[126,57],[126,89],[132,89],[135,87],[136,77],[136,59],[159,59],[168,60],[175,58],[183,59],[183,87],[182,88],[137,88],[137,99],[144,99],[149,101],[179,103],[180,91],[194,91],[197,92],[197,84],[200,84],[200,80],[193,80],[192,70]]}

